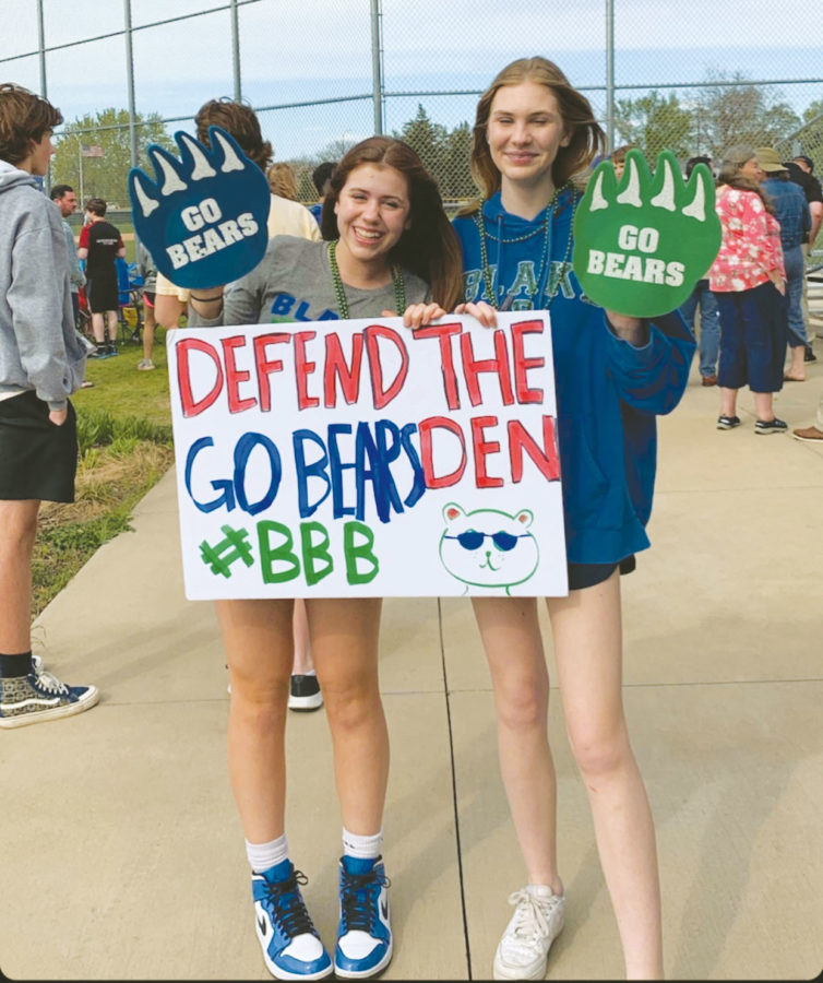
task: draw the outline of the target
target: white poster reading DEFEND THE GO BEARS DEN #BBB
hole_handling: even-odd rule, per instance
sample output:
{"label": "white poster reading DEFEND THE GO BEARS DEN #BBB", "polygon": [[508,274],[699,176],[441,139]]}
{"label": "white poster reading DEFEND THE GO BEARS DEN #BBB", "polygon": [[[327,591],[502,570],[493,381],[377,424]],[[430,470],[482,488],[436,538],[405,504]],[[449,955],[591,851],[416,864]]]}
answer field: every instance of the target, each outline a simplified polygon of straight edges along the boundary
{"label": "white poster reading DEFEND THE GO BEARS DEN #BBB", "polygon": [[547,312],[167,345],[190,600],[568,593]]}

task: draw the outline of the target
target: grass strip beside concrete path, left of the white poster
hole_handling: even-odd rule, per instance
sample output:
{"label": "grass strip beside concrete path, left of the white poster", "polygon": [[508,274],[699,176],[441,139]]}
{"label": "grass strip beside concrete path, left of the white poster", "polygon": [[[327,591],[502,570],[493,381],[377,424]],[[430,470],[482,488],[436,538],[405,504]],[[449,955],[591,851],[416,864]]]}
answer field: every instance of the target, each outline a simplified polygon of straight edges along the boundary
{"label": "grass strip beside concrete path, left of the white poster", "polygon": [[87,363],[94,386],[71,398],[77,412],[75,500],[44,502],[32,561],[36,617],[99,546],[130,529],[134,506],[174,463],[166,332],[158,329],[154,371],[136,371],[142,344]]}

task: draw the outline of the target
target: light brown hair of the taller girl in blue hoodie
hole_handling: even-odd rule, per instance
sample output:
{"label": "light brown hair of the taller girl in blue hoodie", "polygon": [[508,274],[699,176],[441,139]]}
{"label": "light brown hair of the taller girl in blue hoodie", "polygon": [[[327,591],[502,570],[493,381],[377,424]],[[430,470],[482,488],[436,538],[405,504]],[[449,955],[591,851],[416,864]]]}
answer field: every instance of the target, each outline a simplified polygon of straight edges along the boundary
{"label": "light brown hair of the taller girl in blue hoodie", "polygon": [[603,129],[595,119],[592,104],[576,88],[573,88],[563,72],[547,58],[518,58],[502,71],[480,96],[477,104],[475,126],[472,131],[472,177],[485,198],[491,198],[500,190],[500,171],[491,159],[487,140],[487,127],[491,104],[498,90],[504,85],[520,85],[522,82],[537,82],[553,93],[560,115],[571,134],[568,146],[558,149],[551,168],[551,177],[559,188],[575,175],[584,171],[597,153],[601,153],[606,140]]}

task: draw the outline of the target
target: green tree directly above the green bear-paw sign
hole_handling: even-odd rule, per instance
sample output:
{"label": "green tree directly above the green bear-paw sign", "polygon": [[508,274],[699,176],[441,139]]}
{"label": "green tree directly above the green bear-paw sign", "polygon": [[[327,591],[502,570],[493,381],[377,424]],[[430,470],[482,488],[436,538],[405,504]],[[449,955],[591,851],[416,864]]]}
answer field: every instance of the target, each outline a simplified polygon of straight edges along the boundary
{"label": "green tree directly above the green bear-paw sign", "polygon": [[692,114],[675,93],[668,98],[653,90],[637,99],[618,99],[615,127],[621,143],[633,143],[654,166],[663,150],[678,157],[692,155]]}

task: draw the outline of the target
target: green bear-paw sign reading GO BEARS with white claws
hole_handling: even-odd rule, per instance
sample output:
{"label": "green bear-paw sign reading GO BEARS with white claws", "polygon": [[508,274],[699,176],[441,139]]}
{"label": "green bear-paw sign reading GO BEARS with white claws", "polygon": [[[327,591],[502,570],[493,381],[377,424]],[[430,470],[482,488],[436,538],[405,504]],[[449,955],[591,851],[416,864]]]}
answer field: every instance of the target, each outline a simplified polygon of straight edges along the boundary
{"label": "green bear-paw sign reading GO BEARS with white claws", "polygon": [[685,183],[664,151],[654,177],[637,150],[618,182],[600,163],[574,220],[574,272],[586,296],[617,313],[651,318],[675,310],[720,248],[712,173],[697,164]]}

